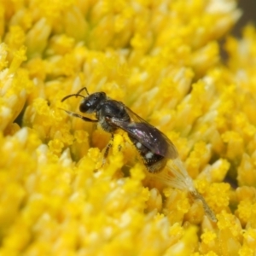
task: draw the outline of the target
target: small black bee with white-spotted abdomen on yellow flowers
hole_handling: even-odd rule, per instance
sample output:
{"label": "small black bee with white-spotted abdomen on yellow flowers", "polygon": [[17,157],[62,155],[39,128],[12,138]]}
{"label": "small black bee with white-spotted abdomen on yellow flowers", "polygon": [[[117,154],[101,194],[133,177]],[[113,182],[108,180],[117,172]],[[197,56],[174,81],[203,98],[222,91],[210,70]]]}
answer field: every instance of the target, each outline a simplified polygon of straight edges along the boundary
{"label": "small black bee with white-spotted abdomen on yellow flowers", "polygon": [[[88,96],[80,94],[83,90],[86,91]],[[83,97],[84,99],[80,103],[79,110],[82,113],[95,113],[96,119],[65,111],[84,121],[98,123],[102,126],[103,130],[112,133],[112,135],[117,129],[126,131],[131,142],[141,155],[148,172],[160,172],[166,166],[168,159],[177,158],[177,149],[168,137],[132,112],[124,103],[108,98],[105,92],[89,94],[86,87],[79,90],[76,94],[64,97],[61,102],[72,96]],[[105,158],[108,156],[108,150],[111,148],[111,145],[109,143],[106,148]]]}

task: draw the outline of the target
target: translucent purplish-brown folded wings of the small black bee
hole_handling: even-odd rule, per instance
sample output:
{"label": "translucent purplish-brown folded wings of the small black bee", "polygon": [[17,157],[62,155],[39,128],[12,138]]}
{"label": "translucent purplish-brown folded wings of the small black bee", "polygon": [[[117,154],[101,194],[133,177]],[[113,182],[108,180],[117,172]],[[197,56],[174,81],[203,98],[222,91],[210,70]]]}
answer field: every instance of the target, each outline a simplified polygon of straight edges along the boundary
{"label": "translucent purplish-brown folded wings of the small black bee", "polygon": [[153,125],[150,125],[146,120],[142,119],[137,113],[126,108],[127,113],[131,117],[131,122],[121,121],[111,118],[113,125],[118,126],[126,131],[129,136],[137,139],[143,146],[150,149],[154,154],[159,154],[169,159],[177,158],[177,149],[168,137]]}

